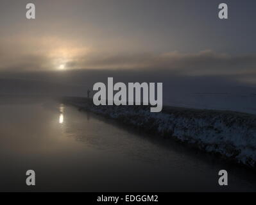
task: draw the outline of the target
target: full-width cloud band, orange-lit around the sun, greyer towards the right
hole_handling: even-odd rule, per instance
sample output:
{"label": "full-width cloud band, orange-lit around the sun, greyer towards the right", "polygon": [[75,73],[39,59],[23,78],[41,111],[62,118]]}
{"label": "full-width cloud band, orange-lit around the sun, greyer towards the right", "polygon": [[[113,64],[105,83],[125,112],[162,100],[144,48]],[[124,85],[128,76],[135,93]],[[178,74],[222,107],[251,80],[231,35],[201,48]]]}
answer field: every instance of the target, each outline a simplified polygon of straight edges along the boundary
{"label": "full-width cloud band, orange-lit around the sun, greyer towards the right", "polygon": [[[256,82],[256,54],[230,55],[212,50],[197,53],[112,53],[57,37],[8,37],[0,40],[1,71],[141,70],[183,76],[232,76]],[[122,72],[123,72],[122,71]]]}

